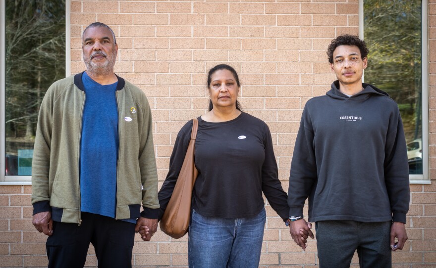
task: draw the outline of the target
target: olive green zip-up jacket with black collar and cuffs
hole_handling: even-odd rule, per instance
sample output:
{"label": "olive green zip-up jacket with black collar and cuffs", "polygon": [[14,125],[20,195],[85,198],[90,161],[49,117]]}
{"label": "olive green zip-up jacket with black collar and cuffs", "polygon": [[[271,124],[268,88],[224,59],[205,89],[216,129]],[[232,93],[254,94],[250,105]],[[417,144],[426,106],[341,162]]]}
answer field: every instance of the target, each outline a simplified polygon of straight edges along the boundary
{"label": "olive green zip-up jacket with black collar and cuffs", "polygon": [[[52,219],[63,223],[81,221],[79,159],[83,89],[82,73],[56,81],[42,101],[35,136],[33,214],[51,211]],[[119,152],[115,219],[140,216],[157,219],[160,206],[150,105],[141,89],[120,77],[116,102]]]}

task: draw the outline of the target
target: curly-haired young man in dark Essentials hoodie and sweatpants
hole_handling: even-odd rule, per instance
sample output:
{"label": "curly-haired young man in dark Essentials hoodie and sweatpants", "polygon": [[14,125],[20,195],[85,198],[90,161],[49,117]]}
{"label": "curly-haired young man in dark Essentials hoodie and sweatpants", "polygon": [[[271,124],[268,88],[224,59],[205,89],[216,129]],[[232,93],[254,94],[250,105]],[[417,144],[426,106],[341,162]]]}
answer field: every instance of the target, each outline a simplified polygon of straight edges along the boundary
{"label": "curly-haired young man in dark Essentials hoodie and sweatpants", "polygon": [[[409,172],[403,125],[394,100],[362,83],[368,48],[343,35],[328,46],[337,81],[304,107],[289,178],[290,233],[306,248],[316,223],[320,268],[391,267],[407,234]],[[395,242],[395,239],[397,242]]]}

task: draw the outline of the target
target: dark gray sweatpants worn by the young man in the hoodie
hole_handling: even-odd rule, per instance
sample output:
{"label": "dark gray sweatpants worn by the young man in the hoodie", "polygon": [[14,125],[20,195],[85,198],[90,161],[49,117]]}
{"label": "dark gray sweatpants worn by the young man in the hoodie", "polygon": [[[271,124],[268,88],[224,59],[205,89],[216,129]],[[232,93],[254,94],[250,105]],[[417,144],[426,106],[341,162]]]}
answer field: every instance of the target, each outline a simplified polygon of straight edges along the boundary
{"label": "dark gray sweatpants worn by the young man in the hoodie", "polygon": [[320,268],[349,268],[357,250],[361,268],[392,267],[391,222],[321,221],[316,223]]}

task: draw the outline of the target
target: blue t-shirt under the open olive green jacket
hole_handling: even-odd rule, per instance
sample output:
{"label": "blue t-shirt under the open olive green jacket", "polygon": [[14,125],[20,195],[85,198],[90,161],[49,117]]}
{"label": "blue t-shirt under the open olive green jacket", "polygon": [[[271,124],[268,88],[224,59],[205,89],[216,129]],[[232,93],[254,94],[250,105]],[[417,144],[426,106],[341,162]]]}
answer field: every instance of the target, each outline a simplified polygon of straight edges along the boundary
{"label": "blue t-shirt under the open olive green jacket", "polygon": [[82,75],[85,107],[80,143],[81,211],[115,218],[118,108],[116,85]]}

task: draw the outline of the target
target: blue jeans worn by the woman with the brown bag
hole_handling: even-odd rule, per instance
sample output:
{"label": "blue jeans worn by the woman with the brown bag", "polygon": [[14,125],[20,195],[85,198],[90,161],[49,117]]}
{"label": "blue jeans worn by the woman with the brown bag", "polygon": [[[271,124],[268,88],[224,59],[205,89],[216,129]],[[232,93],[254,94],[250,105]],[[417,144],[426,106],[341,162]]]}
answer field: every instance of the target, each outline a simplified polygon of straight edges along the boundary
{"label": "blue jeans worn by the woman with the brown bag", "polygon": [[267,215],[252,218],[204,217],[192,211],[189,225],[190,268],[257,268]]}

